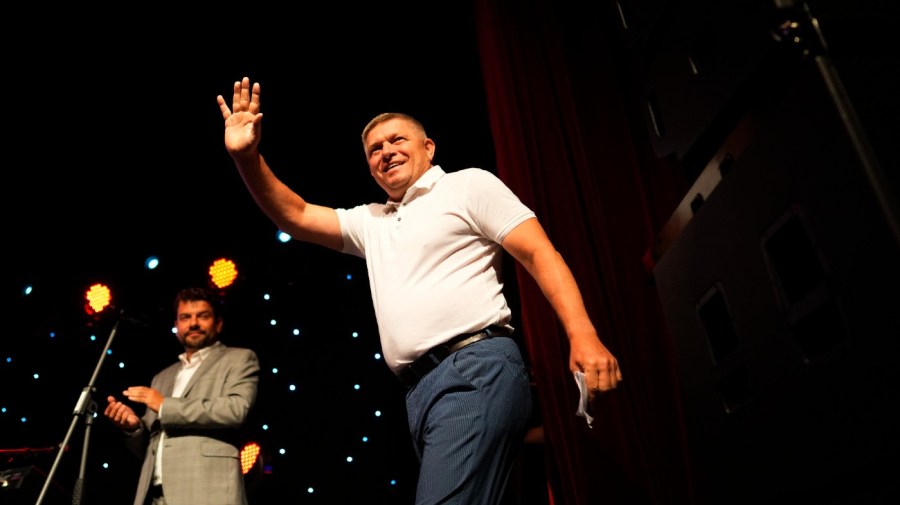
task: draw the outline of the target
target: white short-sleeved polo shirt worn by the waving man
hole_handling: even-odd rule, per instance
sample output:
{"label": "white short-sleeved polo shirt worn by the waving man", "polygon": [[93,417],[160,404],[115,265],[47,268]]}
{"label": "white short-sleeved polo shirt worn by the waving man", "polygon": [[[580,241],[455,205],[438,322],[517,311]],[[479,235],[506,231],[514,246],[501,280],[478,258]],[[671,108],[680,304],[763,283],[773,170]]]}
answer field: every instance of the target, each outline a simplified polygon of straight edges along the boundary
{"label": "white short-sleeved polo shirt worn by the waving man", "polygon": [[497,176],[435,165],[400,203],[336,211],[343,252],[366,260],[382,351],[395,373],[455,335],[509,327],[500,243],[535,214]]}

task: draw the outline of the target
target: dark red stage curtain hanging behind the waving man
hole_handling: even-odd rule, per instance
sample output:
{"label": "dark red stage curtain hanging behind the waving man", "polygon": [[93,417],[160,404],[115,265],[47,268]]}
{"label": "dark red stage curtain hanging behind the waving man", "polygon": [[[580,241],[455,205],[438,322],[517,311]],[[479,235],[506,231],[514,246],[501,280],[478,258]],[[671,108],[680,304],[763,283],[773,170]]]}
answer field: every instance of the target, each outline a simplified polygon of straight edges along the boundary
{"label": "dark red stage curtain hanging behind the waving man", "polygon": [[497,173],[538,215],[582,289],[620,387],[576,417],[568,341],[516,267],[556,505],[690,503],[670,337],[643,257],[685,188],[647,156],[602,17],[549,0],[475,1]]}

